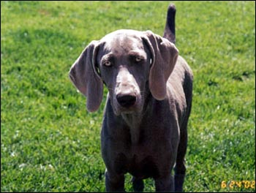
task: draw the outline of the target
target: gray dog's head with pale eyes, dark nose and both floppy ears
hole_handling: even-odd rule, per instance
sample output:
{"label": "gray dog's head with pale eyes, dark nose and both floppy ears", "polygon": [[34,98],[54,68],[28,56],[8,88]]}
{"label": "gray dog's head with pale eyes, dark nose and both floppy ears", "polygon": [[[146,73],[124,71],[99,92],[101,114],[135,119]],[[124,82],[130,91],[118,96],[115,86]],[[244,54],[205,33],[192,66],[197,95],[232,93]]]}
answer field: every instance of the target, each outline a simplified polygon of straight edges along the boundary
{"label": "gray dog's head with pale eyes, dark nose and both floppy ears", "polygon": [[155,99],[165,99],[166,82],[177,58],[175,45],[151,31],[118,30],[91,42],[72,65],[69,77],[87,96],[89,111],[99,108],[105,83],[116,115],[140,112],[146,88]]}

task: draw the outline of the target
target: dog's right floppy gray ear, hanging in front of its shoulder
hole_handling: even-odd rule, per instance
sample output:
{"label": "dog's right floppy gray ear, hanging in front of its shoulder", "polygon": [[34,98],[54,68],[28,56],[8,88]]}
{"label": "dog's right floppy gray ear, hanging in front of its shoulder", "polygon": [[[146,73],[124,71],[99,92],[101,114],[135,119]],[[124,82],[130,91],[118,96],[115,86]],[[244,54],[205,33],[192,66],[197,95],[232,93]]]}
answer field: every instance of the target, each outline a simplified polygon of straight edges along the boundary
{"label": "dog's right floppy gray ear, hanging in front of its shoulder", "polygon": [[166,96],[166,82],[178,58],[178,49],[167,39],[152,31],[143,32],[143,41],[151,51],[151,69],[149,72],[149,89],[155,99],[162,100]]}

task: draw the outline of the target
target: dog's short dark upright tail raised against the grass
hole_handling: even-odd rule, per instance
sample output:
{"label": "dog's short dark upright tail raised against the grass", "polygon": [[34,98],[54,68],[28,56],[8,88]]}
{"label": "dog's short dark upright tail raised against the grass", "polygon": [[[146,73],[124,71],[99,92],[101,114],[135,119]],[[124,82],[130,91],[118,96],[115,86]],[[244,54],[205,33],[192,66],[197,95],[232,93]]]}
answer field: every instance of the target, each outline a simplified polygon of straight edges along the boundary
{"label": "dog's short dark upright tail raised against the grass", "polygon": [[170,42],[173,42],[173,44],[175,44],[176,42],[175,14],[176,14],[176,7],[174,4],[170,4],[167,10],[164,37],[168,39]]}

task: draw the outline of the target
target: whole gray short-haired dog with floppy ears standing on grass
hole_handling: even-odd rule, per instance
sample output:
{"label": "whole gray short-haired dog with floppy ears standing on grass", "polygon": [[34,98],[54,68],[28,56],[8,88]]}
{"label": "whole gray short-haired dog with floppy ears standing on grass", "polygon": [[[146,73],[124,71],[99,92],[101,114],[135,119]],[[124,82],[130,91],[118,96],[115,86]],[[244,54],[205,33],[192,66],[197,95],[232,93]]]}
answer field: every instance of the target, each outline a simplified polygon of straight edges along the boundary
{"label": "whole gray short-haired dog with floppy ears standing on grass", "polygon": [[170,5],[164,37],[114,31],[92,41],[70,69],[91,112],[99,108],[103,84],[108,87],[101,132],[108,192],[124,192],[125,173],[136,192],[144,178],[154,178],[157,192],[182,191],[193,77],[174,45],[175,14]]}

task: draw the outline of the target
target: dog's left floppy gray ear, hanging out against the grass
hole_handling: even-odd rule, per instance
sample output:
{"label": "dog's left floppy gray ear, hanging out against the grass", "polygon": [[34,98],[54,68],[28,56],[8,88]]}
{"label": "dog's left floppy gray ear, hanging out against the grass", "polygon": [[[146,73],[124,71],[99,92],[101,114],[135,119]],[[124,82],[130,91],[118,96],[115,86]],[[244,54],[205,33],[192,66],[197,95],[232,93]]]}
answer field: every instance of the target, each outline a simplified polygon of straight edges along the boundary
{"label": "dog's left floppy gray ear, hanging out against the grass", "polygon": [[102,102],[103,83],[95,69],[99,41],[92,41],[80,54],[69,71],[69,78],[78,90],[87,97],[86,107],[90,112]]}

